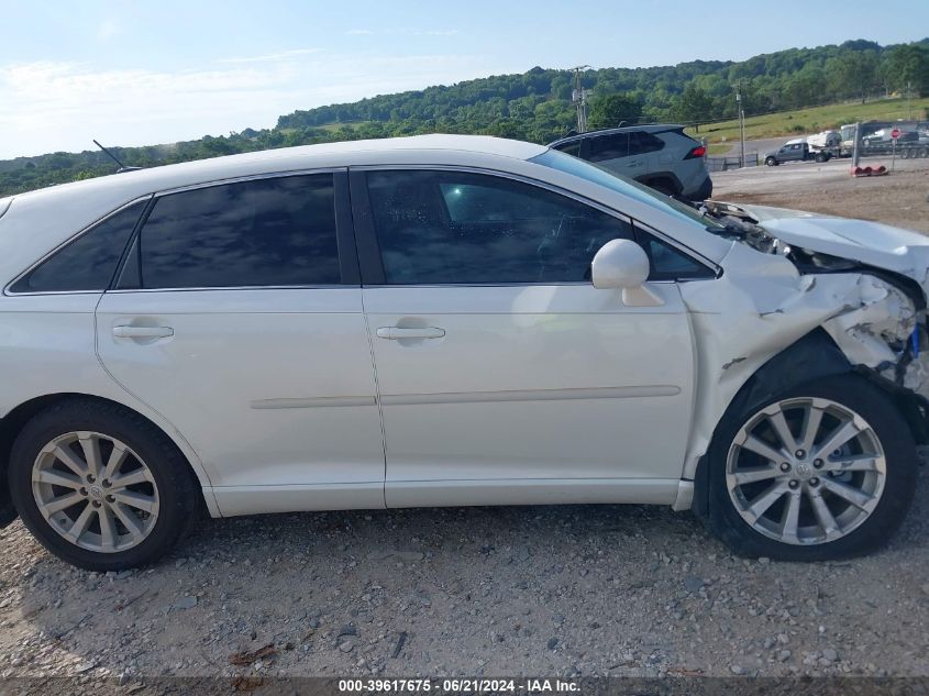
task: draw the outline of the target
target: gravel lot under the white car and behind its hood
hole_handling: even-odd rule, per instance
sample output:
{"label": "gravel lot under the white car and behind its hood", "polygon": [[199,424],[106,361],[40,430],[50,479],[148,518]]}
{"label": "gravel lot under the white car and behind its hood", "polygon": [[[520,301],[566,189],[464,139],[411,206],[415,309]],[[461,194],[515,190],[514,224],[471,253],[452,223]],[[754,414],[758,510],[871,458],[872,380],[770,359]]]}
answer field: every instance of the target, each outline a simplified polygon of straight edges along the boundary
{"label": "gravel lot under the white car and behind its hood", "polygon": [[[924,163],[864,181],[842,163],[726,173],[717,191],[929,232]],[[828,564],[737,559],[690,515],[639,506],[207,520],[156,567],[107,575],[15,522],[0,675],[126,693],[165,675],[929,676],[927,499],[920,467],[889,548]]]}

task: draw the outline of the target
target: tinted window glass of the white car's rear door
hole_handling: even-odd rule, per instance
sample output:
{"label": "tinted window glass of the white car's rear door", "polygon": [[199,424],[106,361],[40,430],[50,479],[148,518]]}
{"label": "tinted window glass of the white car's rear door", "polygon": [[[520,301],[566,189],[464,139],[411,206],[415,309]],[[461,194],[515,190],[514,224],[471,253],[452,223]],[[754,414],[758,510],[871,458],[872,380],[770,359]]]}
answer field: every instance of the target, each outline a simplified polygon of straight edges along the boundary
{"label": "tinted window glass of the white car's rear door", "polygon": [[142,229],[137,252],[144,288],[338,284],[332,175],[164,196]]}

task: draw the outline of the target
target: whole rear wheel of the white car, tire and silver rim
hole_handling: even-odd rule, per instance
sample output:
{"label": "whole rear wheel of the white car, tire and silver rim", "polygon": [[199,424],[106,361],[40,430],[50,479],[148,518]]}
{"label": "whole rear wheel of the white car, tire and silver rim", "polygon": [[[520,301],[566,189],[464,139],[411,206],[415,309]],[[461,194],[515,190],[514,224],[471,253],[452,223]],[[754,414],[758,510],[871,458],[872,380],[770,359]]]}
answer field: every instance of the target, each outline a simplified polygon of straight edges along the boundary
{"label": "whole rear wheel of the white car, tire and silver rim", "polygon": [[10,459],[10,491],[46,549],[92,571],[155,561],[196,510],[174,443],[139,415],[93,400],[63,402],[25,426]]}

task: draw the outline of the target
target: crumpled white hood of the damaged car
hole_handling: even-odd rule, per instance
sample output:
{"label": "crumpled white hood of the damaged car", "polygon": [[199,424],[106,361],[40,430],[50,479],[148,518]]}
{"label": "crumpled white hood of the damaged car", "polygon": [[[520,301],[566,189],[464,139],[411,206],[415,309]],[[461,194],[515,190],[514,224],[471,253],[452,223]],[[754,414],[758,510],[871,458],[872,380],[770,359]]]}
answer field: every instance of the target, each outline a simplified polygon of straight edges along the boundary
{"label": "crumpled white hood of the damaged car", "polygon": [[866,220],[767,206],[732,207],[786,244],[899,273],[929,294],[929,236]]}

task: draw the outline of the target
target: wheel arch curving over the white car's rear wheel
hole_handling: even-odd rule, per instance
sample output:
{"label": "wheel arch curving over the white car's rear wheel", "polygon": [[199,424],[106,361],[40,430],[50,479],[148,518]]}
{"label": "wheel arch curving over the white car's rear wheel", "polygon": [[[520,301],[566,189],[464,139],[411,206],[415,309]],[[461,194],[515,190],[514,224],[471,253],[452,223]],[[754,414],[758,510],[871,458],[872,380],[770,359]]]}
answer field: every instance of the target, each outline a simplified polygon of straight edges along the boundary
{"label": "wheel arch curving over the white car's rear wheel", "polygon": [[203,505],[211,516],[219,517],[219,509],[215,500],[213,500],[212,495],[209,493],[211,487],[210,479],[207,476],[199,457],[197,457],[197,454],[190,448],[190,444],[183,435],[180,435],[180,433],[176,431],[173,433],[172,430],[165,428],[164,424],[157,422],[148,415],[141,412],[139,409],[133,408],[128,404],[93,394],[64,391],[57,394],[46,394],[29,399],[27,401],[23,401],[10,409],[2,418],[0,418],[0,527],[5,527],[16,518],[16,511],[13,509],[12,502],[10,501],[9,482],[7,479],[7,468],[13,442],[22,431],[23,427],[34,416],[56,404],[70,399],[90,399],[106,404],[113,404],[133,411],[135,415],[152,423],[162,433],[164,433],[172,444],[174,444],[174,446],[180,452],[184,461],[187,462],[188,473],[192,477],[197,489],[201,493]]}

